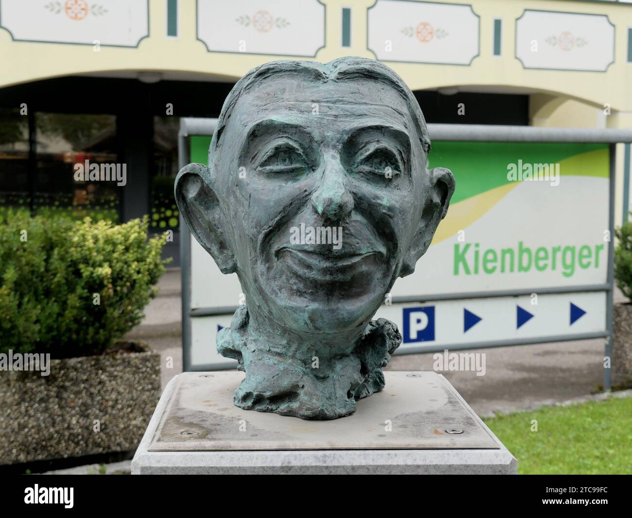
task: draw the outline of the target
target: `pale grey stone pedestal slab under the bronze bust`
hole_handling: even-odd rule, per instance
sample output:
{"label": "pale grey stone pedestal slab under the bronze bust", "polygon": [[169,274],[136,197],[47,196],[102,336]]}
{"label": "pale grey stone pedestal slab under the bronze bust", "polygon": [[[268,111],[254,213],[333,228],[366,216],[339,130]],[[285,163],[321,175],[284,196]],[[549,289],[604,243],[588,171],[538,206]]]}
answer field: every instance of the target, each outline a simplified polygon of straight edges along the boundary
{"label": "pale grey stone pedestal slab under the bronze bust", "polygon": [[516,459],[435,372],[385,372],[355,414],[303,420],[233,405],[242,372],[169,382],[133,474],[515,474]]}

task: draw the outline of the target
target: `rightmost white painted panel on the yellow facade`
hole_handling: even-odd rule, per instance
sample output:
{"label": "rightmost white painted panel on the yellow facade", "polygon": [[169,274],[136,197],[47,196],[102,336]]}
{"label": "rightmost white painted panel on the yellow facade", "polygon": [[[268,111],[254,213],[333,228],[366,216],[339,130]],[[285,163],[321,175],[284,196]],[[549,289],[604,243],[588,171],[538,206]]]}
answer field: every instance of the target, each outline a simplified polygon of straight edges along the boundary
{"label": "rightmost white painted panel on the yellow facade", "polygon": [[516,20],[516,58],[525,68],[605,72],[614,25],[606,15],[526,9]]}

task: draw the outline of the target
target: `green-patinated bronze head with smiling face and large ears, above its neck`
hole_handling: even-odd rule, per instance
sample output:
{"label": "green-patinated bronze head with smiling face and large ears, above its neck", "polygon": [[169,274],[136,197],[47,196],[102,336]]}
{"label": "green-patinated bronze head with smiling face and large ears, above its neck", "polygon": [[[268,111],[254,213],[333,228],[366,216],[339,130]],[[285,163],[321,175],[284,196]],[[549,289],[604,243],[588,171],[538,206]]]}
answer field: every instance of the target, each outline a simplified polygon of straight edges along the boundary
{"label": "green-patinated bronze head with smiling face and large ears, above its neck", "polygon": [[246,296],[231,338],[241,346],[222,353],[244,362],[246,343],[262,341],[289,363],[316,356],[332,369],[353,356],[446,214],[454,178],[427,168],[429,150],[415,97],[377,61],[273,61],[247,73],[224,103],[209,167],[176,179],[193,236]]}

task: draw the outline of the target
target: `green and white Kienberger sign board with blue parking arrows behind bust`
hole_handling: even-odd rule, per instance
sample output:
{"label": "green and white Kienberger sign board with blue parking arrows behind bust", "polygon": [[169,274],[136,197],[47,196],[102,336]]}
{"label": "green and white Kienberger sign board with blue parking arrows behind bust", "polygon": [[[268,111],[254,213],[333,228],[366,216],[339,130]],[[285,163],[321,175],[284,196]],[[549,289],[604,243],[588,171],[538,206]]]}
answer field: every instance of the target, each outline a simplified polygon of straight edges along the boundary
{"label": "green and white Kienberger sign board with blue parking arrows behind bust", "polygon": [[[546,178],[526,174],[544,165]],[[400,352],[605,336],[607,144],[434,141],[430,166],[456,178],[447,217],[375,315],[398,325]],[[195,239],[190,260],[191,309],[205,315],[191,318],[191,364],[235,365],[215,336],[248,301]]]}

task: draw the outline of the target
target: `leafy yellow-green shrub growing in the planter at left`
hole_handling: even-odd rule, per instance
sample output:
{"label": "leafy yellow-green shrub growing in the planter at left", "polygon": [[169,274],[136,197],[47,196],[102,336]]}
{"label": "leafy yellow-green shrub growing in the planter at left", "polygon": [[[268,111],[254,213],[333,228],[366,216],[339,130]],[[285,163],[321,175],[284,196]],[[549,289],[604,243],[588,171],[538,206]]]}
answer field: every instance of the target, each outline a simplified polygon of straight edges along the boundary
{"label": "leafy yellow-green shrub growing in the planter at left", "polygon": [[0,352],[95,355],[137,325],[166,263],[166,236],[148,240],[147,224],[9,212],[0,222]]}

